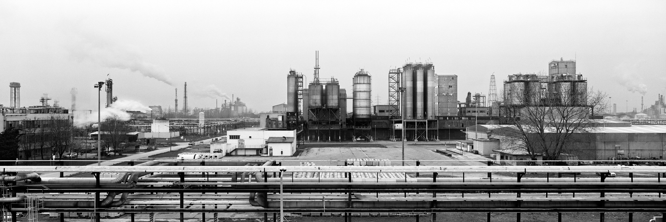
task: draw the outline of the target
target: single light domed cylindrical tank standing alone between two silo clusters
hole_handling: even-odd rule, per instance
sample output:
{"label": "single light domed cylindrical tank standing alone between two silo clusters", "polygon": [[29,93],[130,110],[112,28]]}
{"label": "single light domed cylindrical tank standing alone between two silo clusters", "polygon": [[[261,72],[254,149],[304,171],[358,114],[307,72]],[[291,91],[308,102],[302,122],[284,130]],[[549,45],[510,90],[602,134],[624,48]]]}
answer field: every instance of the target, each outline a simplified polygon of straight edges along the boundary
{"label": "single light domed cylindrical tank standing alone between two silo clusters", "polygon": [[[360,118],[369,118],[372,107],[372,76],[361,69],[354,75],[354,116]],[[363,116],[362,116],[363,115]]]}

